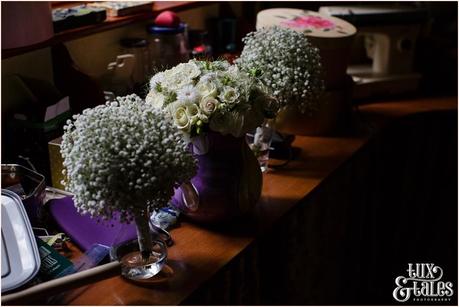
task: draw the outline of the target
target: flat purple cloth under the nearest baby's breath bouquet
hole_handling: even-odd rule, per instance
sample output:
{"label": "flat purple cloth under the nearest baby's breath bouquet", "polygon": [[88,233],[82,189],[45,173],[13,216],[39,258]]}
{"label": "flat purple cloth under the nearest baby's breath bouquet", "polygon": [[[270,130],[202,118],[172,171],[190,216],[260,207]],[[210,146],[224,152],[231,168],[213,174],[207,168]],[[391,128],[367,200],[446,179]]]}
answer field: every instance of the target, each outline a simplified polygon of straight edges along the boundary
{"label": "flat purple cloth under the nearest baby's breath bouquet", "polygon": [[83,251],[96,243],[113,246],[137,237],[134,223],[122,224],[116,219],[104,221],[81,215],[71,197],[53,199],[48,204],[54,220]]}

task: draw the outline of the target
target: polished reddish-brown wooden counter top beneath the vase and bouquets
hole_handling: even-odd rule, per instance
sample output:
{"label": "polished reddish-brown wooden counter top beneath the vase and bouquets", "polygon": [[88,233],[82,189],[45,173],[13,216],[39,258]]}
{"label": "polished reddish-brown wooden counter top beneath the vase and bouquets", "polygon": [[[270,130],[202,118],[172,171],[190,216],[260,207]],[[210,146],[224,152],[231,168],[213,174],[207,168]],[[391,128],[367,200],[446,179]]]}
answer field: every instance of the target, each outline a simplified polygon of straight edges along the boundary
{"label": "polished reddish-brown wooden counter top beneath the vase and bouquets", "polygon": [[[367,104],[361,116],[372,124],[434,110],[457,109],[457,97]],[[177,305],[203,282],[209,280],[261,233],[270,229],[288,210],[321,184],[334,170],[350,159],[369,136],[297,137],[298,159],[285,168],[263,176],[263,192],[254,219],[225,230],[209,229],[183,222],[171,234],[168,273],[153,285],[143,286],[122,277],[112,277],[65,294],[59,304],[71,305]]]}

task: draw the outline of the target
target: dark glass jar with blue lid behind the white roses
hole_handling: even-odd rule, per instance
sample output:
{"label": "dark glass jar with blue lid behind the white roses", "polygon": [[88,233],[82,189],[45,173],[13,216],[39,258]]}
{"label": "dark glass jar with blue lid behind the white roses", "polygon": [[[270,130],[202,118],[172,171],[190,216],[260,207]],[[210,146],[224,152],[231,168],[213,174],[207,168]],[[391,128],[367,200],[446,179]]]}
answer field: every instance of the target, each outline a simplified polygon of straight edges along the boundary
{"label": "dark glass jar with blue lid behind the white roses", "polygon": [[151,71],[169,69],[190,59],[186,24],[177,27],[148,25]]}

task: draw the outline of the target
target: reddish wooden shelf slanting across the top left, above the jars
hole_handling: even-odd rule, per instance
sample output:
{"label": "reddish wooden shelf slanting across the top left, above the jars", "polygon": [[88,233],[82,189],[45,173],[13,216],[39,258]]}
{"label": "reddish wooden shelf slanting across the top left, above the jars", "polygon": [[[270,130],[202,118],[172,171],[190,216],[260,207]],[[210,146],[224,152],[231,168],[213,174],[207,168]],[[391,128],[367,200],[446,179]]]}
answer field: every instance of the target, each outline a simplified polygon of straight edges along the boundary
{"label": "reddish wooden shelf slanting across the top left, above the jars", "polygon": [[88,35],[123,27],[135,22],[153,19],[163,11],[170,10],[174,12],[180,12],[215,3],[216,2],[214,1],[156,1],[153,3],[152,10],[149,12],[142,12],[122,17],[107,16],[107,19],[102,23],[62,31],[54,34],[54,36],[51,39],[44,42],[40,42],[26,47],[2,49],[2,59],[7,59],[30,51],[50,47],[59,43],[82,38]]}

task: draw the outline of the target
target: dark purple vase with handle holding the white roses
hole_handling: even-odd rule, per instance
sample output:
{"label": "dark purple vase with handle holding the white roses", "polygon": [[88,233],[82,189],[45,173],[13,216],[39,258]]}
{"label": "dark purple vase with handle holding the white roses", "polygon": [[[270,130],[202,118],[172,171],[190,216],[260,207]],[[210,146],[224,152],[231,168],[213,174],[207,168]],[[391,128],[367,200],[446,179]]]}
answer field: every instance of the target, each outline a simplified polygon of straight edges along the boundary
{"label": "dark purple vase with handle holding the white roses", "polygon": [[245,138],[209,132],[205,141],[205,154],[193,146],[198,172],[192,185],[176,189],[172,203],[201,223],[229,221],[250,212],[261,195],[262,175]]}

